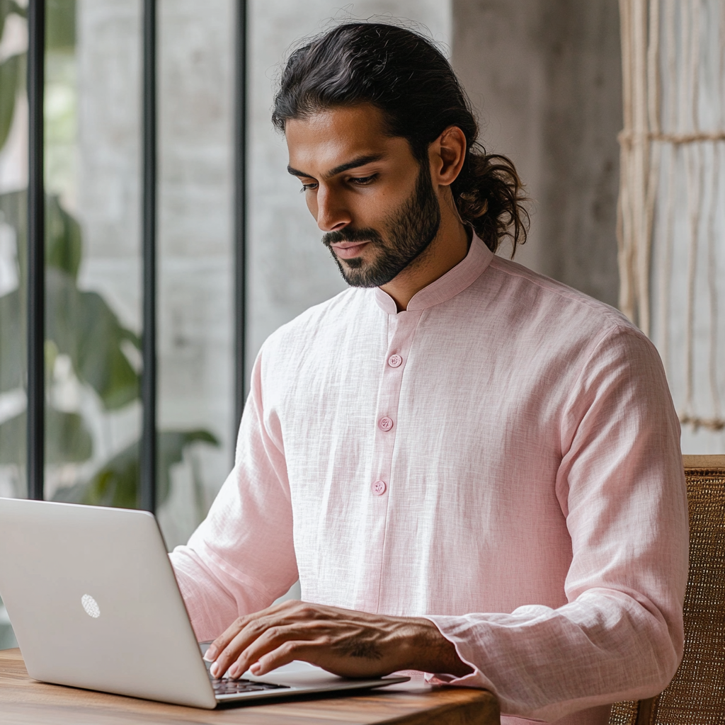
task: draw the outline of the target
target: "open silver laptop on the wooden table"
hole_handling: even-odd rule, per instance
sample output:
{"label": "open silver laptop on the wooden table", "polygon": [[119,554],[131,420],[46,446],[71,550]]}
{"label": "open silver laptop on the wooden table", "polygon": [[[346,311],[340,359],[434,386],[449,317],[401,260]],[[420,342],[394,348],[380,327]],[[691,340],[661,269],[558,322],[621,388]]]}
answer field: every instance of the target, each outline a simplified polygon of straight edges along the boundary
{"label": "open silver laptop on the wooden table", "polygon": [[212,709],[410,679],[345,679],[305,662],[213,679],[145,511],[0,498],[0,597],[43,682]]}

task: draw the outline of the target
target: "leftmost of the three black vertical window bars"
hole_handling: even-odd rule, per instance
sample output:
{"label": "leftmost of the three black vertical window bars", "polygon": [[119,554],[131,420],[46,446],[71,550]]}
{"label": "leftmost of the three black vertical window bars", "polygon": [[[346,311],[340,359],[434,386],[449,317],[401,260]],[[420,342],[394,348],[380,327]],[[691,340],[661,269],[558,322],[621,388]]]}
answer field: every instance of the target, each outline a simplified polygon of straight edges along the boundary
{"label": "leftmost of the three black vertical window bars", "polygon": [[45,0],[28,3],[28,498],[43,500],[45,466]]}

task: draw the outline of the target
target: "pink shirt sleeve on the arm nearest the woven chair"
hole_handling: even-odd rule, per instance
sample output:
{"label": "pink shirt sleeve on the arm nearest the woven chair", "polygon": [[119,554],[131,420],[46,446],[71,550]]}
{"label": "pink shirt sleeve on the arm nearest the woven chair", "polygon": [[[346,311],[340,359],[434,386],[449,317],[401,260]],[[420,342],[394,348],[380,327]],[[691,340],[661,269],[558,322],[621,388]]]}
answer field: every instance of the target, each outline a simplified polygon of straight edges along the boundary
{"label": "pink shirt sleeve on the arm nearest the woven chair", "polygon": [[473,669],[429,679],[486,687],[502,712],[544,721],[661,692],[684,640],[679,421],[650,341],[624,327],[605,334],[563,406],[560,430],[568,603],[428,617]]}

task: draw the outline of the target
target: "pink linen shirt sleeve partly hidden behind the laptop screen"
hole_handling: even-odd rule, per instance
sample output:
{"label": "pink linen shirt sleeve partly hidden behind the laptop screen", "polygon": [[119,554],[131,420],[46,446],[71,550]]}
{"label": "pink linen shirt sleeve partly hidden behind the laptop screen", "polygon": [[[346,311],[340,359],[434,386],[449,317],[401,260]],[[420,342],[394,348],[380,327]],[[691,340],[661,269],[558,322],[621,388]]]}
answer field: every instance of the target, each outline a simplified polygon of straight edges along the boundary
{"label": "pink linen shirt sleeve partly hidden behind the laptop screen", "polygon": [[170,554],[199,641],[268,607],[297,581],[292,511],[281,430],[265,422],[262,359],[252,370],[236,460],[207,518]]}

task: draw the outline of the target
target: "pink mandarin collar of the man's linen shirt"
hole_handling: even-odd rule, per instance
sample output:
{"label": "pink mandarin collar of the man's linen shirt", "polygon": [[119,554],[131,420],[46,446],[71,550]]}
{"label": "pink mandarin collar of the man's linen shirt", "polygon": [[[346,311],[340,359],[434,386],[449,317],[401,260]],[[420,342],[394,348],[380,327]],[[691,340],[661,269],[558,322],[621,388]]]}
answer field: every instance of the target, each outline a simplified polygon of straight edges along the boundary
{"label": "pink mandarin collar of the man's linen shirt", "polygon": [[[427,307],[447,302],[471,286],[484,273],[493,257],[494,253],[474,234],[471,239],[471,247],[463,260],[442,277],[416,292],[408,302],[406,310],[408,312],[425,310]],[[395,300],[380,287],[375,289],[375,301],[383,312],[387,312],[389,315],[397,314],[398,308]]]}

